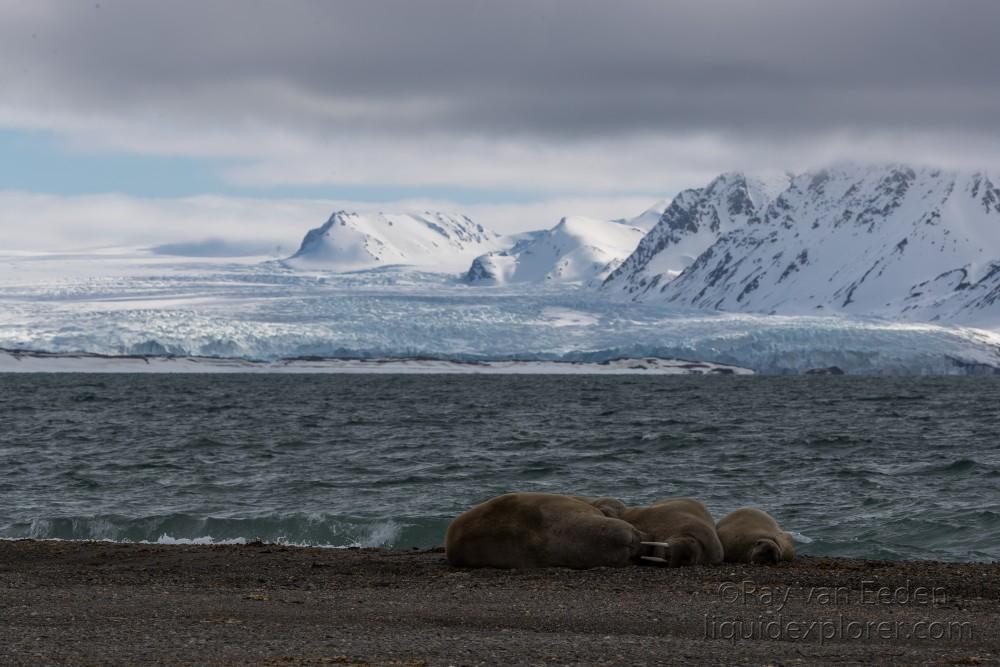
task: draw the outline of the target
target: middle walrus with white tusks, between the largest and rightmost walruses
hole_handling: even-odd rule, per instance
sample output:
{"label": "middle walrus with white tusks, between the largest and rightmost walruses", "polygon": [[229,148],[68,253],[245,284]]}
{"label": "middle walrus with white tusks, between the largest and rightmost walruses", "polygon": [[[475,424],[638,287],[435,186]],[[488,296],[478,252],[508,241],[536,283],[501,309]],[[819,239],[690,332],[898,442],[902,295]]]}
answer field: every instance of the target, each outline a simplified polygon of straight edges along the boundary
{"label": "middle walrus with white tusks, between the largest and rightmost walruses", "polygon": [[694,498],[667,498],[647,507],[629,507],[621,518],[661,543],[641,561],[669,567],[717,565],[723,549],[715,532],[715,519]]}

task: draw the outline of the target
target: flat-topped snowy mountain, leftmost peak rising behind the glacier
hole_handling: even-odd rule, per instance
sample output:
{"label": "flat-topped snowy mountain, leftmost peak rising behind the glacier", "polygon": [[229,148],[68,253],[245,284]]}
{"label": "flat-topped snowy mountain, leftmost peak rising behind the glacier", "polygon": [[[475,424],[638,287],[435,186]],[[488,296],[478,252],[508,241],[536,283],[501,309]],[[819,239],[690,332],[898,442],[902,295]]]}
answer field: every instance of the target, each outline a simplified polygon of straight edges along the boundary
{"label": "flat-topped snowy mountain, leftmost peak rising behind the glacier", "polygon": [[310,230],[286,264],[299,269],[357,271],[388,265],[462,271],[500,236],[464,215],[337,211]]}

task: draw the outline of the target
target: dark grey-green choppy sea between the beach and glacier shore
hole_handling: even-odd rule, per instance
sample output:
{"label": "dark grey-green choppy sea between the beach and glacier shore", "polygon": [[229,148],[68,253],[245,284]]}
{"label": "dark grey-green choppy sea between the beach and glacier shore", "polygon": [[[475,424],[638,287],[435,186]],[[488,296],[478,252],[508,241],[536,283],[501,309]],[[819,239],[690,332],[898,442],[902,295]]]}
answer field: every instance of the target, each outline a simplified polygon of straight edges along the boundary
{"label": "dark grey-green choppy sea between the beach and glacier shore", "polygon": [[511,490],[1000,558],[1000,379],[0,375],[0,536],[429,547]]}

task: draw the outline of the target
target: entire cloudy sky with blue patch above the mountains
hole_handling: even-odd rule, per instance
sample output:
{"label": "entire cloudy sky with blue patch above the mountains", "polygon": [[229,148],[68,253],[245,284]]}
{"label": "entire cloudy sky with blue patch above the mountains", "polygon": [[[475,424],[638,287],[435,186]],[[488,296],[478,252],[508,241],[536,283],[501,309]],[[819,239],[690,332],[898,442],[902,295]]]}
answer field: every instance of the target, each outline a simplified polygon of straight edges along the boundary
{"label": "entire cloudy sky with blue patch above the mountains", "polygon": [[[56,245],[211,234],[176,203],[218,198],[266,198],[275,237],[321,222],[292,201],[508,231],[734,169],[993,167],[998,25],[995,0],[0,0],[0,234],[29,200]],[[126,200],[177,217],[72,221]]]}

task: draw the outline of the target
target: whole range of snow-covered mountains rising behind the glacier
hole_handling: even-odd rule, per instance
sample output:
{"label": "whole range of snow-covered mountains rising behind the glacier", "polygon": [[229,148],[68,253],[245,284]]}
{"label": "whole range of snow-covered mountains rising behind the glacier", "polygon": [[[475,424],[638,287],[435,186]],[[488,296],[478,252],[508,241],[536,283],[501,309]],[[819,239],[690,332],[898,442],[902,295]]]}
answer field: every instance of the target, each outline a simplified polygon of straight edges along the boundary
{"label": "whole range of snow-covered mountains rising behind the glacier", "polygon": [[901,165],[768,179],[727,173],[635,218],[567,217],[512,237],[465,216],[339,211],[286,264],[465,270],[470,284],[600,285],[604,294],[703,310],[995,329],[997,183],[985,172]]}

